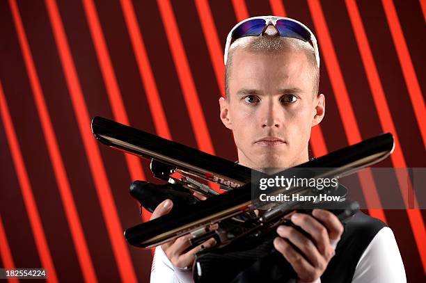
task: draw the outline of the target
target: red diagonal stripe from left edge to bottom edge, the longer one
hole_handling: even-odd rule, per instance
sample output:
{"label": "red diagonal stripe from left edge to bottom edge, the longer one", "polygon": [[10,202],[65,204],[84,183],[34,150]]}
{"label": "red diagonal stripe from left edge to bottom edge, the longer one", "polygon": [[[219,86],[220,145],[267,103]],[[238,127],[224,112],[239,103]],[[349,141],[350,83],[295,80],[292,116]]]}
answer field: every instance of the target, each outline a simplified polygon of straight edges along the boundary
{"label": "red diagonal stripe from left edge to bottom edge, the longer one", "polygon": [[[10,6],[13,7],[13,5],[16,5],[16,3],[11,0]],[[15,6],[15,8],[17,7]],[[56,270],[52,261],[52,255],[50,254],[49,245],[47,245],[45,231],[42,227],[40,214],[38,213],[36,200],[34,199],[33,195],[33,189],[31,188],[28,173],[26,172],[24,158],[22,157],[22,152],[19,148],[19,143],[17,140],[15,129],[13,127],[12,118],[10,118],[10,112],[8,109],[8,104],[6,102],[6,97],[3,92],[3,86],[1,86],[1,81],[0,112],[1,119],[3,120],[3,125],[6,131],[6,138],[8,139],[9,143],[10,153],[12,154],[13,165],[15,165],[15,171],[18,177],[19,186],[21,187],[22,197],[24,198],[26,213],[28,214],[28,218],[30,220],[31,230],[33,231],[34,239],[36,240],[36,246],[38,254],[40,255],[40,261],[42,263],[43,268],[46,268],[47,272],[49,273],[47,281],[56,283],[58,282],[58,277],[56,277]]]}

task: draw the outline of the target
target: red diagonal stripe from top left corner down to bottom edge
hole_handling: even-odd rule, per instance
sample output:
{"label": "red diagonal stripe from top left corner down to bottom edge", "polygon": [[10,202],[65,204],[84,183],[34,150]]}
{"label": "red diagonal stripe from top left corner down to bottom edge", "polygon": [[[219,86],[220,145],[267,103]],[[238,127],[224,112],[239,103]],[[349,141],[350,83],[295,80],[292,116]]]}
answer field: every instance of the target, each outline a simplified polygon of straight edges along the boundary
{"label": "red diagonal stripe from top left corner down to bottom edge", "polygon": [[56,184],[58,184],[63,207],[65,208],[65,215],[68,220],[68,225],[70,226],[72,241],[74,242],[74,246],[77,251],[81,272],[83,273],[86,282],[97,282],[95,269],[93,268],[93,263],[90,259],[86,238],[84,237],[84,232],[81,227],[79,215],[77,213],[77,208],[74,202],[74,197],[70,188],[70,182],[68,181],[68,176],[65,172],[65,166],[63,165],[61,152],[59,150],[58,142],[52,127],[52,120],[49,116],[49,111],[47,110],[45,97],[40,86],[40,80],[38,79],[36,66],[34,65],[29,42],[24,31],[24,25],[22,24],[22,19],[19,15],[19,10],[15,1],[10,1],[10,6],[12,8],[13,19],[19,38],[19,45],[22,49],[27,73],[29,74],[31,89],[33,90],[33,96],[42,125],[42,131],[47,143],[49,157],[53,165]]}

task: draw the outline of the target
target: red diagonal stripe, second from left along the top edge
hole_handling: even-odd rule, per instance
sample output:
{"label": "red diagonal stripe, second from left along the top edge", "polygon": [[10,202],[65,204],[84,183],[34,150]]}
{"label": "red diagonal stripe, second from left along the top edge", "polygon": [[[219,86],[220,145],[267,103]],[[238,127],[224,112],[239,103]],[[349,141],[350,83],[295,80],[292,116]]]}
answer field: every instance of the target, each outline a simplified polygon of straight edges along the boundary
{"label": "red diagonal stripe, second from left along the top edge", "polygon": [[104,164],[102,163],[100,150],[90,131],[88,109],[77,76],[77,70],[72,60],[70,46],[68,45],[68,40],[65,35],[61,15],[59,14],[55,0],[46,0],[46,6],[120,277],[123,282],[136,282],[136,274],[134,273],[129,250],[123,238],[123,227],[118,218],[118,212],[111,193],[111,187],[109,186],[107,172],[105,172]]}

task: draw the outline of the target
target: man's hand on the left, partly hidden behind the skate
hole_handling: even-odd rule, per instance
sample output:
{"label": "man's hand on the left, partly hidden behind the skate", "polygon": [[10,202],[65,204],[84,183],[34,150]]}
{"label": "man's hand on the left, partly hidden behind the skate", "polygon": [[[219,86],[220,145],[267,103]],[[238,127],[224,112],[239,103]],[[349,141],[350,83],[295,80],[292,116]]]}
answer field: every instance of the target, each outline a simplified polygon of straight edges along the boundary
{"label": "man's hand on the left, partly hidden behind the skate", "polygon": [[[171,211],[173,207],[173,202],[171,200],[164,200],[161,202],[156,208],[155,211],[152,212],[151,219],[159,218],[160,216],[164,216]],[[185,268],[192,266],[194,263],[194,255],[203,250],[204,248],[210,248],[216,244],[216,240],[214,238],[210,238],[205,241],[203,244],[196,246],[195,248],[184,252],[189,248],[189,239],[191,238],[191,234],[182,236],[180,238],[176,238],[174,241],[170,241],[168,243],[164,243],[161,245],[164,253],[167,258],[171,261],[173,266],[178,268]]]}

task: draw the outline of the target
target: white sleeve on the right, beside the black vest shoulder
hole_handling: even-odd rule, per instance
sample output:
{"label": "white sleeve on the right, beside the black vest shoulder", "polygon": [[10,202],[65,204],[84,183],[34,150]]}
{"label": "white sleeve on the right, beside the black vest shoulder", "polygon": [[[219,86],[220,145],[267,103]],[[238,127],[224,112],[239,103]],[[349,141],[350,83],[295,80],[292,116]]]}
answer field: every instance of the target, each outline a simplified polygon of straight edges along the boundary
{"label": "white sleeve on the right, beside the black vest shoulder", "polygon": [[406,283],[404,264],[389,227],[372,239],[356,265],[352,283]]}

